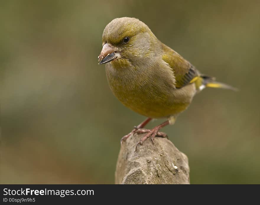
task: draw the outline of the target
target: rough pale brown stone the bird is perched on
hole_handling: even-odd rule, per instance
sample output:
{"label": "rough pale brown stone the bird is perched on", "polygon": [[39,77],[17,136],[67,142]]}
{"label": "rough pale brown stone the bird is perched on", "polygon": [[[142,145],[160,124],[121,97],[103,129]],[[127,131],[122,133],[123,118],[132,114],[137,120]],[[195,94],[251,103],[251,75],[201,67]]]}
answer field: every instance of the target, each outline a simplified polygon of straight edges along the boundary
{"label": "rough pale brown stone the bird is perched on", "polygon": [[116,163],[116,184],[189,184],[188,157],[167,138],[150,138],[135,147],[144,134],[123,142]]}

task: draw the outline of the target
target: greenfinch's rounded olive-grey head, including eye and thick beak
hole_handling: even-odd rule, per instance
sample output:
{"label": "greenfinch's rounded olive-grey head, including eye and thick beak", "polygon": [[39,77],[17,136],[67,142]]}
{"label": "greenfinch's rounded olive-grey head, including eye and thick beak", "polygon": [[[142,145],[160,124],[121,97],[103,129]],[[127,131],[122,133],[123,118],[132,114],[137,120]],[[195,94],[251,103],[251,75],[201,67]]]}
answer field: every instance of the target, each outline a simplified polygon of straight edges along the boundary
{"label": "greenfinch's rounded olive-grey head, including eye and thick beak", "polygon": [[150,64],[160,47],[147,25],[129,17],[112,20],[104,29],[102,43],[99,64],[111,62],[114,67]]}

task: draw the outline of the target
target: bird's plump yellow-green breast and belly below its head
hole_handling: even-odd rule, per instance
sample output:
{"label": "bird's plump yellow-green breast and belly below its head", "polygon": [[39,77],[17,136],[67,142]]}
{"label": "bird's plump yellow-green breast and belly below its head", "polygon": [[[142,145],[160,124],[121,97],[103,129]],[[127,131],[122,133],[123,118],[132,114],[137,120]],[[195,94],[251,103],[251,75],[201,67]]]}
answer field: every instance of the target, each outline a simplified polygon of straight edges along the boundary
{"label": "bird's plump yellow-green breast and belly below its head", "polygon": [[168,117],[188,106],[186,100],[181,102],[175,98],[173,82],[158,70],[137,70],[132,67],[115,69],[107,64],[106,75],[118,100],[144,116]]}

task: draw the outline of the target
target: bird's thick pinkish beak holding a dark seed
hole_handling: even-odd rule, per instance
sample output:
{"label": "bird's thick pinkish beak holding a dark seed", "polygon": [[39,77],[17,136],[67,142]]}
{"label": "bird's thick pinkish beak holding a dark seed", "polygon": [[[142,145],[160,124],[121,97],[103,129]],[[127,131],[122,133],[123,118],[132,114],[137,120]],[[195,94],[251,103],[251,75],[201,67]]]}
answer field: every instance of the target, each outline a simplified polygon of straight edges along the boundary
{"label": "bird's thick pinkish beak holding a dark seed", "polygon": [[100,55],[98,56],[99,64],[104,64],[116,59],[120,59],[121,55],[118,51],[118,48],[112,46],[109,43],[105,43]]}

